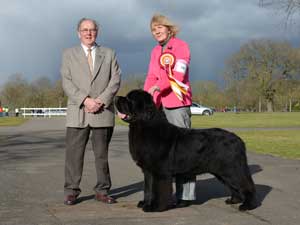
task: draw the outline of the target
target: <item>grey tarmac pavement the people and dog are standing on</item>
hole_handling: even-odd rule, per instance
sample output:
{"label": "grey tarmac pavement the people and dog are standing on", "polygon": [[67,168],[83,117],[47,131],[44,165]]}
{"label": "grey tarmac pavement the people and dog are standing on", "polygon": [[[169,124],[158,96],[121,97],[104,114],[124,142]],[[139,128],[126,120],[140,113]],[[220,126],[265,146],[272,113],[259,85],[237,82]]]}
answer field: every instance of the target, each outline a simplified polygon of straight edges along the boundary
{"label": "grey tarmac pavement the people and dog are standing on", "polygon": [[0,127],[1,225],[298,225],[300,161],[248,151],[262,205],[249,212],[225,205],[228,192],[210,175],[197,177],[197,202],[188,208],[144,213],[143,176],[128,152],[127,127],[116,127],[110,145],[111,193],[118,203],[93,200],[95,169],[86,151],[80,203],[63,204],[64,118],[34,118],[19,127]]}

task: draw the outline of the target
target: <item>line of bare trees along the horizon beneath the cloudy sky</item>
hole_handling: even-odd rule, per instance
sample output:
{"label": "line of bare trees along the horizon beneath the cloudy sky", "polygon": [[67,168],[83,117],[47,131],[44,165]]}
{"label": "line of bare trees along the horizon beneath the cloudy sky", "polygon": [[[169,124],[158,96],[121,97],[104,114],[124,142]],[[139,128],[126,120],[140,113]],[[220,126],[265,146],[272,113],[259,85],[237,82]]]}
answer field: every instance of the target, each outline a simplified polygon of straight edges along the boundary
{"label": "line of bare trees along the horizon beneath the cloudy sky", "polygon": [[[300,110],[300,50],[287,42],[252,40],[225,62],[224,83],[193,81],[193,101],[222,110],[243,111]],[[119,95],[143,88],[145,75],[122,80]],[[61,80],[41,77],[28,82],[14,74],[0,91],[2,106],[66,107],[67,97]]]}

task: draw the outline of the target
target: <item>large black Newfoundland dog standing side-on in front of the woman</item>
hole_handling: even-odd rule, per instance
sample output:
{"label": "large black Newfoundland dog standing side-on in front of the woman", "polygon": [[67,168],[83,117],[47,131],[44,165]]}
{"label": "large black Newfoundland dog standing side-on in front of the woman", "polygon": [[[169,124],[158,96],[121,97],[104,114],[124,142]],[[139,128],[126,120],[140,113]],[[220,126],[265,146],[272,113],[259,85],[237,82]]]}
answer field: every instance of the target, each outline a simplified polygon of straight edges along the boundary
{"label": "large black Newfoundland dog standing side-on in front of the woman", "polygon": [[244,142],[226,130],[186,129],[170,124],[152,96],[133,90],[117,96],[119,116],[129,123],[129,150],[144,173],[145,212],[169,209],[172,177],[176,174],[213,174],[226,185],[227,204],[242,203],[239,210],[258,206],[256,190],[247,164]]}

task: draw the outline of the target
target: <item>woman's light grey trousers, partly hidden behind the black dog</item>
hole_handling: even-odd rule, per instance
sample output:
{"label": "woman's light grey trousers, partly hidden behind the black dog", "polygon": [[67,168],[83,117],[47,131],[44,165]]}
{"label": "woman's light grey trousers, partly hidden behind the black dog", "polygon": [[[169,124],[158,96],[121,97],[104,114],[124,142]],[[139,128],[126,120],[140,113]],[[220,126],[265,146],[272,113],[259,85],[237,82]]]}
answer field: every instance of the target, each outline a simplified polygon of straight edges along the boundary
{"label": "woman's light grey trousers, partly hidden behind the black dog", "polygon": [[[191,128],[191,110],[190,107],[163,108],[167,120],[184,128]],[[186,154],[189,154],[188,150]],[[196,176],[176,175],[176,198],[182,200],[196,199]]]}

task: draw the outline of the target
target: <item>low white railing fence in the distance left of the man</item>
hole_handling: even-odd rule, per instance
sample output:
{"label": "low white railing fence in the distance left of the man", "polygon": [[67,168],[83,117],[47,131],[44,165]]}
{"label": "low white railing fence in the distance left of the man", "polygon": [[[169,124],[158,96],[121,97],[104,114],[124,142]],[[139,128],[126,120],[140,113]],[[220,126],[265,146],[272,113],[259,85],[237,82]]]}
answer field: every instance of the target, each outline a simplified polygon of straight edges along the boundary
{"label": "low white railing fence in the distance left of the man", "polygon": [[21,108],[21,115],[35,117],[51,117],[67,115],[67,108]]}

